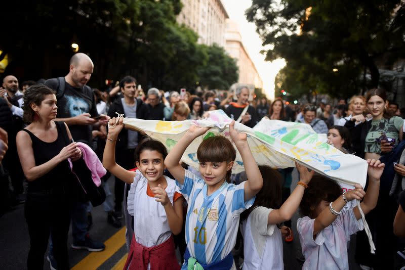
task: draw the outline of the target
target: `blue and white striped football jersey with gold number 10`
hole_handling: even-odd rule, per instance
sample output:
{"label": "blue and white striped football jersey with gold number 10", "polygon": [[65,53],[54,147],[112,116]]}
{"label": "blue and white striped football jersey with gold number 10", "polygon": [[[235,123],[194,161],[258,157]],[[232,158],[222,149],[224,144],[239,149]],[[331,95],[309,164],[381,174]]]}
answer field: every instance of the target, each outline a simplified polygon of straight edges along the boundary
{"label": "blue and white striped football jersey with gold number 10", "polygon": [[188,170],[184,184],[176,181],[176,185],[188,203],[185,233],[190,255],[202,264],[222,260],[235,245],[240,213],[251,207],[255,198],[245,202],[245,182],[237,186],[224,182],[207,196],[204,179]]}

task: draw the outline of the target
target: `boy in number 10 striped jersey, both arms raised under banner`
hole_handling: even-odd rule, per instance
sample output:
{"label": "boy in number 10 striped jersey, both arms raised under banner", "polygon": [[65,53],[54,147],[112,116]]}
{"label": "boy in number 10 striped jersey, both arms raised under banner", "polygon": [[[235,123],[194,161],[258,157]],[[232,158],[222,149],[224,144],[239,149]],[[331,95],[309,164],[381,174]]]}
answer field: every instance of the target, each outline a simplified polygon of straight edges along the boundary
{"label": "boy in number 10 striped jersey, both arms raised under banner", "polygon": [[182,269],[235,269],[231,250],[235,245],[239,215],[249,208],[263,185],[263,178],[249,149],[247,134],[229,126],[230,137],[244,162],[248,181],[229,184],[236,156],[231,142],[222,136],[210,137],[198,147],[199,171],[203,178],[183,169],[180,158],[188,145],[209,128],[193,125],[165,159],[188,203],[186,243]]}

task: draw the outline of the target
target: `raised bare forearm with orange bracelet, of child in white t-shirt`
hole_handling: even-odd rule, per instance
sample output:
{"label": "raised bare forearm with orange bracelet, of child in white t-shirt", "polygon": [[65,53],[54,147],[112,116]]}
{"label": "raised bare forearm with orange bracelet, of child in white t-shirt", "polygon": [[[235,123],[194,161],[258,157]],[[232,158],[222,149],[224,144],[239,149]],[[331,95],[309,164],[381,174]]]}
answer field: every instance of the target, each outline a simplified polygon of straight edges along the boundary
{"label": "raised bare forearm with orange bracelet, of child in white t-shirt", "polygon": [[[297,170],[300,172],[300,182],[304,185],[308,185],[311,181],[314,171],[309,172],[308,169],[297,162],[295,163]],[[293,193],[288,199],[281,205],[280,209],[275,209],[269,213],[267,223],[278,224],[287,220],[290,220],[293,214],[300,206],[302,196],[304,196],[305,186],[297,185]]]}

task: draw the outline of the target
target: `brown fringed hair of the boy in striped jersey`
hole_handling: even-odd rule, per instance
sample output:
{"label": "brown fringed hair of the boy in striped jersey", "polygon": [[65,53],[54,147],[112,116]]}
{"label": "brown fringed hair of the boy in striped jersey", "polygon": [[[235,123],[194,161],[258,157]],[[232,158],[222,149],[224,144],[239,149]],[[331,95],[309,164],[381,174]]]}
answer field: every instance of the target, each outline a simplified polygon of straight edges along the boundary
{"label": "brown fringed hair of the boy in striped jersey", "polygon": [[[223,162],[234,161],[236,151],[231,142],[223,136],[214,136],[204,140],[197,149],[199,162]],[[231,181],[232,169],[226,172],[226,182]]]}

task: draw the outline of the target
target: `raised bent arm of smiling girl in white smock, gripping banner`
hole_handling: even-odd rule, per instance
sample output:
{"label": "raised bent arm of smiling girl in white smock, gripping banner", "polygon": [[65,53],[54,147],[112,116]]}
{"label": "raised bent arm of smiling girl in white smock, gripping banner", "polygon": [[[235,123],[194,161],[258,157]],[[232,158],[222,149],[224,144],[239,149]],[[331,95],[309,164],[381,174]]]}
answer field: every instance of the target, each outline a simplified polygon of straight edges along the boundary
{"label": "raised bent arm of smiling girl in white smock, gripping banner", "polygon": [[118,140],[119,132],[124,127],[123,120],[123,117],[119,119],[114,117],[108,122],[111,127],[108,129],[107,142],[104,148],[103,166],[125,183],[132,184],[134,182],[135,172],[128,171],[115,162],[115,143]]}

